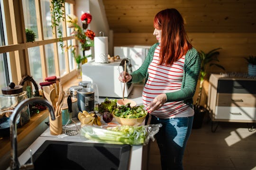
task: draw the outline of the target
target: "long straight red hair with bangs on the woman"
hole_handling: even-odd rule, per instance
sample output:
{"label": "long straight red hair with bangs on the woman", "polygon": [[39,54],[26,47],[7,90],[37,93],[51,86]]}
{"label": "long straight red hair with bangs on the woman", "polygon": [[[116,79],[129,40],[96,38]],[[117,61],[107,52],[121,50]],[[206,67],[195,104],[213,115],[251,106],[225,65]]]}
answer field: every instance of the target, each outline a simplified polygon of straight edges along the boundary
{"label": "long straight red hair with bangs on the woman", "polygon": [[183,17],[177,9],[158,12],[155,15],[154,27],[162,30],[159,65],[173,64],[192,48],[184,29]]}

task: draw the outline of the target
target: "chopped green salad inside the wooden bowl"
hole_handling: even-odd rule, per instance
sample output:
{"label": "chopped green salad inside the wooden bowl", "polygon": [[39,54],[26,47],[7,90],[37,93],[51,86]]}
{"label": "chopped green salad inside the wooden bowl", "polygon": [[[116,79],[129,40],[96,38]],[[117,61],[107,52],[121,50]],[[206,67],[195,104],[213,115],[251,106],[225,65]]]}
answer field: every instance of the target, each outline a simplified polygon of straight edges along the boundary
{"label": "chopped green salad inside the wooden bowl", "polygon": [[147,115],[147,111],[143,109],[144,106],[135,106],[130,107],[130,105],[121,105],[116,107],[112,113],[120,118],[128,118],[128,119],[134,119],[134,118],[141,118]]}

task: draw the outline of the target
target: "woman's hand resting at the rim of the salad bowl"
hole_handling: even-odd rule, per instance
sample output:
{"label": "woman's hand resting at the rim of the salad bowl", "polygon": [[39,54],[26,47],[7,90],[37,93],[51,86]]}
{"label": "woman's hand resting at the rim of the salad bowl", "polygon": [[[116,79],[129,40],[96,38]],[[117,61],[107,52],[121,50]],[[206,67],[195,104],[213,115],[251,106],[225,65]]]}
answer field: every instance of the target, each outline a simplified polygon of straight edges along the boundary
{"label": "woman's hand resting at the rim of the salad bowl", "polygon": [[151,113],[152,111],[159,109],[165,104],[166,101],[167,96],[165,93],[157,95],[155,99],[147,105],[147,112]]}

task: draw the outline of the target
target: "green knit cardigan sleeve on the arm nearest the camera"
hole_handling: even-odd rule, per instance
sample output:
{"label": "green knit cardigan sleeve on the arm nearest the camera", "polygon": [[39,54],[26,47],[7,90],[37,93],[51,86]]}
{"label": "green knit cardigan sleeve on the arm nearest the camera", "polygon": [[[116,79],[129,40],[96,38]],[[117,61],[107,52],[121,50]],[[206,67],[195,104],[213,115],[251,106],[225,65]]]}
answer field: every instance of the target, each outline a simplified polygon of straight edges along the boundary
{"label": "green knit cardigan sleeve on the arm nearest the camera", "polygon": [[191,99],[196,91],[196,85],[201,68],[198,52],[192,48],[185,56],[184,74],[180,90],[166,93],[166,102],[184,101]]}

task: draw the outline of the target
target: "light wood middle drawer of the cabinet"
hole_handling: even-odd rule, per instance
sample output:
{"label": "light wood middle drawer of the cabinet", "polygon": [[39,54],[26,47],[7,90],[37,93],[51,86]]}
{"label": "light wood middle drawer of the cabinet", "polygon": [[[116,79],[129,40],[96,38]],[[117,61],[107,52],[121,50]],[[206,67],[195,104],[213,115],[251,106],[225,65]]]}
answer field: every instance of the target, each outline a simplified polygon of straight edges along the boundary
{"label": "light wood middle drawer of the cabinet", "polygon": [[256,94],[218,93],[217,106],[256,107]]}

